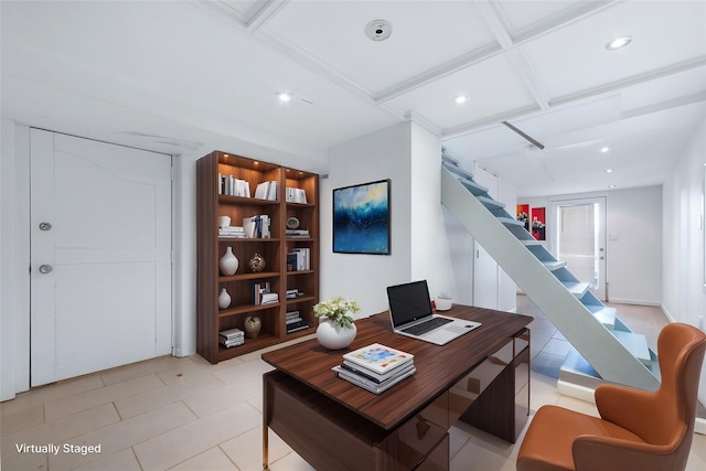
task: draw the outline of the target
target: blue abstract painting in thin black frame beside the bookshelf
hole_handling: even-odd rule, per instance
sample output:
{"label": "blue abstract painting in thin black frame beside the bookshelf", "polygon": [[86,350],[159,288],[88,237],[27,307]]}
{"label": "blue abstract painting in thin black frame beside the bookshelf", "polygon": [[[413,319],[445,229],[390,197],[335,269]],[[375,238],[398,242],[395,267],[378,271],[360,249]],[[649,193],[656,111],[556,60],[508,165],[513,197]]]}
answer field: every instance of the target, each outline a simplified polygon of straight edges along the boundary
{"label": "blue abstract painting in thin black frame beside the bookshelf", "polygon": [[389,255],[389,180],[333,190],[333,251]]}

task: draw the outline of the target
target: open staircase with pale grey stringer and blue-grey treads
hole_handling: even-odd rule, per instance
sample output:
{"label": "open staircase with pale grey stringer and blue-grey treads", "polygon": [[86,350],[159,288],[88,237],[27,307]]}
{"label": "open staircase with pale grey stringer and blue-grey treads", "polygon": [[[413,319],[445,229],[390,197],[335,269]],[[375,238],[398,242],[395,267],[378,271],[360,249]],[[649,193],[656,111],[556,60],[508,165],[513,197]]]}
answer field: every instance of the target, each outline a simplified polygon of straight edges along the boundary
{"label": "open staircase with pale grey stringer and blue-grey treads", "polygon": [[441,203],[498,261],[573,345],[559,373],[559,393],[592,400],[602,383],[654,390],[657,357],[644,335],[631,332],[504,204],[448,157],[442,159]]}

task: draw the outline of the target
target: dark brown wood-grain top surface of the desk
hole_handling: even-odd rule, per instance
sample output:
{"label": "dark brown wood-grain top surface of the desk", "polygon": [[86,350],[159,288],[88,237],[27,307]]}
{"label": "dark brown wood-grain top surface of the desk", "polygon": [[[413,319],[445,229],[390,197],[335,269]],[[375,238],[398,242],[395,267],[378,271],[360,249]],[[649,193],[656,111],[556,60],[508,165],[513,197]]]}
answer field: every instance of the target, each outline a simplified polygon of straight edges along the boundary
{"label": "dark brown wood-grain top surface of the desk", "polygon": [[[392,331],[387,311],[355,321],[357,335],[343,350],[327,350],[314,340],[263,354],[263,360],[384,429],[392,429],[495,353],[533,318],[492,309],[453,306],[445,315],[481,322],[480,328],[446,345],[411,339]],[[371,343],[382,343],[415,355],[417,372],[379,395],[338,377],[331,368],[342,355]]]}

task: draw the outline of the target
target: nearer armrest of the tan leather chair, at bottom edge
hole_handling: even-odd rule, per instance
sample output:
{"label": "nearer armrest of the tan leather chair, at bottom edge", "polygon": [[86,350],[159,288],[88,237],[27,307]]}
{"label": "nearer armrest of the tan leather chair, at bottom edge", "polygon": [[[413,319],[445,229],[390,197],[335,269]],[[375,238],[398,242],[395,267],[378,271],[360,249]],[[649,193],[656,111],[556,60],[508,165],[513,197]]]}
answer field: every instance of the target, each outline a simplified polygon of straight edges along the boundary
{"label": "nearer armrest of the tan leather chair, at bottom edge", "polygon": [[675,469],[673,451],[671,446],[587,435],[571,446],[576,471],[668,471]]}

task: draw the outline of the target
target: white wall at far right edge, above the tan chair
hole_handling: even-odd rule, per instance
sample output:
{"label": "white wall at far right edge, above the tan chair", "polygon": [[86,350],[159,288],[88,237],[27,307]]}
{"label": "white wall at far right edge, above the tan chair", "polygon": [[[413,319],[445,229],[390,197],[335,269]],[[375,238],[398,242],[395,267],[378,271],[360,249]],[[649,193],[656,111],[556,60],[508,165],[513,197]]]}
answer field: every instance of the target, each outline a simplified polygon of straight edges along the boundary
{"label": "white wall at far right edge, above the tan chair", "polygon": [[[706,318],[703,227],[706,119],[685,148],[675,151],[675,158],[674,171],[662,189],[662,309],[674,321],[698,327],[699,317]],[[702,367],[698,399],[706,404],[706,364]]]}

